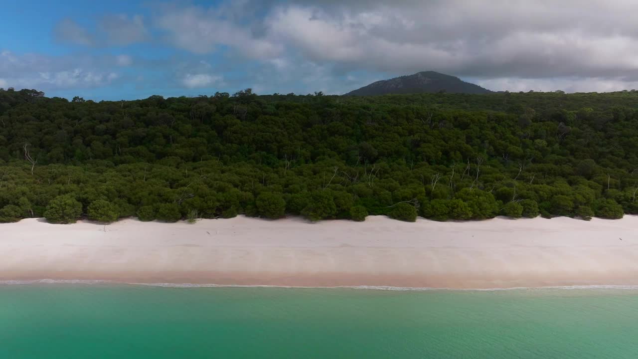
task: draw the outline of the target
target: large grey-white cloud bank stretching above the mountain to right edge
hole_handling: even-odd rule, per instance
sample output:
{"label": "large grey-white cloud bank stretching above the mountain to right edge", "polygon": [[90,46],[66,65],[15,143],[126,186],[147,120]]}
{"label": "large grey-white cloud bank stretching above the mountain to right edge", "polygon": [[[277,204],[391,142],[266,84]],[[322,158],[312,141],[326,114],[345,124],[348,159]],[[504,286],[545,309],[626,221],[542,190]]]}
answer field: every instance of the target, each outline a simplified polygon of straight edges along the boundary
{"label": "large grey-white cloud bank stretching above the mountain to right edge", "polygon": [[309,63],[332,69],[324,75],[333,82],[347,72],[435,70],[607,89],[638,80],[636,11],[630,0],[244,0],[163,8],[152,23],[175,47],[230,50],[272,66],[272,77],[306,73]]}

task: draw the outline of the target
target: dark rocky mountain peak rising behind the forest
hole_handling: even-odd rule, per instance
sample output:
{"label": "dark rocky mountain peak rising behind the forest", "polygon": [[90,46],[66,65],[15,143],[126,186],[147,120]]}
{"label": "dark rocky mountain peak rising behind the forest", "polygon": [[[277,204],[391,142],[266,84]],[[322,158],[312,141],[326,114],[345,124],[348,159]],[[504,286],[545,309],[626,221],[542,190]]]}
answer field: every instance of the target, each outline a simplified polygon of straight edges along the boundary
{"label": "dark rocky mountain peak rising behind the forest", "polygon": [[373,96],[390,93],[432,93],[445,91],[448,93],[491,93],[479,85],[470,84],[458,77],[445,75],[434,71],[424,71],[395,77],[389,80],[373,82],[360,89],[346,93],[346,96]]}

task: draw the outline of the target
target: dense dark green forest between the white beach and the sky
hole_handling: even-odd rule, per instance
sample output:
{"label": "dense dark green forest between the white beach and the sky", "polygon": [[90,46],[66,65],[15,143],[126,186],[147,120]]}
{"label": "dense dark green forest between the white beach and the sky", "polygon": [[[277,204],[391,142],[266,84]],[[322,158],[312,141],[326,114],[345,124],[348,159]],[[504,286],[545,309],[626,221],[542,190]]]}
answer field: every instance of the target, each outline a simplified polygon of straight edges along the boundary
{"label": "dense dark green forest between the white beach and the sky", "polygon": [[638,214],[638,92],[0,90],[0,221]]}

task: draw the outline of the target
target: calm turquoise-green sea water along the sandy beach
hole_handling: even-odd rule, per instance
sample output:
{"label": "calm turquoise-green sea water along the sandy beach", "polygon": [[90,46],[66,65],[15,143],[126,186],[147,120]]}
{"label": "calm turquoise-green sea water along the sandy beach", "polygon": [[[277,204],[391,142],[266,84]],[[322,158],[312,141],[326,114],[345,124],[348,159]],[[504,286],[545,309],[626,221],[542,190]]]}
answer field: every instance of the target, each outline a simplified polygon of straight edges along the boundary
{"label": "calm turquoise-green sea water along the sandy beach", "polygon": [[638,291],[0,285],[0,358],[638,358]]}

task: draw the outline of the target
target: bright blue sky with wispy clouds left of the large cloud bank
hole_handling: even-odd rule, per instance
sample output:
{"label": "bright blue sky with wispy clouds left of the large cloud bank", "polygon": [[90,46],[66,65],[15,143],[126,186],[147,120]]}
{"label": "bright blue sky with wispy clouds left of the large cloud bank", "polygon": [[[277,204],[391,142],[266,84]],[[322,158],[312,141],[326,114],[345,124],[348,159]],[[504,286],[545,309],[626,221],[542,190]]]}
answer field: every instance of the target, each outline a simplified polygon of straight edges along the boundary
{"label": "bright blue sky with wispy clouds left of the large cloud bank", "polygon": [[[239,3],[32,1],[26,7],[2,1],[4,26],[17,30],[0,33],[0,87],[119,100],[244,88],[343,93],[383,78],[379,72],[335,73],[303,59],[293,64],[295,54],[284,55],[283,49],[271,56],[272,43],[255,40],[259,34],[242,34],[258,31],[249,28],[263,20],[268,8]],[[244,7],[251,10],[244,12]],[[244,19],[233,11],[244,13]],[[201,33],[182,27],[191,17],[201,22]]]}

